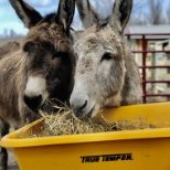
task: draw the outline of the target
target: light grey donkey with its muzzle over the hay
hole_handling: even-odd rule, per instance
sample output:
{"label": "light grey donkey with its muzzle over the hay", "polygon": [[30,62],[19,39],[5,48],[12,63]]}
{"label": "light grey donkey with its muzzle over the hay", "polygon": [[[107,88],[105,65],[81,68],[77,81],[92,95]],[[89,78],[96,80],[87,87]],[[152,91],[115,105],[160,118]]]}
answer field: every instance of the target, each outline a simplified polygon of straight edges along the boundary
{"label": "light grey donkey with its muzzle over the hay", "polygon": [[76,0],[87,29],[74,44],[77,53],[71,106],[79,118],[99,109],[141,103],[138,66],[124,42],[132,0],[116,0],[107,19],[99,17],[88,0]]}

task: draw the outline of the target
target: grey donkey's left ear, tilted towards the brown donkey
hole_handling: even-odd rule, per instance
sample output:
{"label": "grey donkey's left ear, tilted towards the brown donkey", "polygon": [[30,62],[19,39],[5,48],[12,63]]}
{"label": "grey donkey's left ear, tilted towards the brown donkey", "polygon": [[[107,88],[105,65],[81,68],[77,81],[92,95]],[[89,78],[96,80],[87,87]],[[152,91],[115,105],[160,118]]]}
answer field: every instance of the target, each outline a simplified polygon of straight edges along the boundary
{"label": "grey donkey's left ear, tilted towards the brown donkey", "polygon": [[76,0],[77,10],[85,29],[98,23],[102,19],[88,0]]}

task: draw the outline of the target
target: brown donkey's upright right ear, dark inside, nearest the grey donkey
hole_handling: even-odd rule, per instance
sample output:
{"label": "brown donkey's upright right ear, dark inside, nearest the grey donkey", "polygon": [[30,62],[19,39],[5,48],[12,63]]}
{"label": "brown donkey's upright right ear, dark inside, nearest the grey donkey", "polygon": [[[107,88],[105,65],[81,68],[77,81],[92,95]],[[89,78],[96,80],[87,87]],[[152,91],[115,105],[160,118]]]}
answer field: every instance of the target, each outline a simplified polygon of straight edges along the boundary
{"label": "brown donkey's upright right ear, dark inside, nearest the grey donkey", "polygon": [[75,0],[60,0],[56,22],[68,33],[75,11]]}

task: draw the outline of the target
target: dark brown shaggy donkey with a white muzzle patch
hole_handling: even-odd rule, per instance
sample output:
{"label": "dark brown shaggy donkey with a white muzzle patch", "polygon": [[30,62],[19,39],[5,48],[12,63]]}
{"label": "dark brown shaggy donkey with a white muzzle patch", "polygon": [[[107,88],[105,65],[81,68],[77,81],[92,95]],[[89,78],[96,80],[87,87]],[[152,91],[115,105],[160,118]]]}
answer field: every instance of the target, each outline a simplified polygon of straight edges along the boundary
{"label": "dark brown shaggy donkey with a white muzzle patch", "polygon": [[[45,18],[22,0],[10,3],[30,31],[19,50],[0,60],[1,136],[10,125],[22,126],[26,118],[32,121],[38,114],[31,109],[38,110],[47,98],[67,100],[75,65],[70,35],[74,0],[61,0],[57,13]],[[7,159],[1,148],[1,170],[7,169]]]}

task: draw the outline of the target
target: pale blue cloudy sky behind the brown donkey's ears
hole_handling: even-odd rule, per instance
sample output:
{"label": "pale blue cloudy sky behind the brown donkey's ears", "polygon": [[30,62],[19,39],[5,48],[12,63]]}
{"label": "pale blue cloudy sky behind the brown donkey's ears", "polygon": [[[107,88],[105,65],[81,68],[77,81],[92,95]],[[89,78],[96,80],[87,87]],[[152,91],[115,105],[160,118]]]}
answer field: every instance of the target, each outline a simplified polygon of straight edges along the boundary
{"label": "pale blue cloudy sky behind the brown donkey's ears", "polygon": [[[25,0],[29,4],[35,8],[42,15],[45,15],[57,10],[59,0]],[[93,3],[94,0],[91,0]],[[99,1],[99,0],[98,0]],[[137,3],[141,3],[146,0],[136,0]],[[162,2],[170,0],[162,0]],[[108,0],[107,0],[108,2]],[[110,0],[113,6],[114,0]],[[74,21],[77,21],[77,11],[74,17]],[[9,0],[0,0],[0,35],[6,32],[9,34],[10,30],[13,29],[18,34],[25,34],[26,29],[24,28],[21,20],[15,14]]]}

